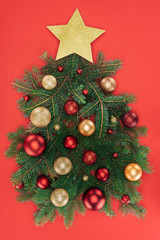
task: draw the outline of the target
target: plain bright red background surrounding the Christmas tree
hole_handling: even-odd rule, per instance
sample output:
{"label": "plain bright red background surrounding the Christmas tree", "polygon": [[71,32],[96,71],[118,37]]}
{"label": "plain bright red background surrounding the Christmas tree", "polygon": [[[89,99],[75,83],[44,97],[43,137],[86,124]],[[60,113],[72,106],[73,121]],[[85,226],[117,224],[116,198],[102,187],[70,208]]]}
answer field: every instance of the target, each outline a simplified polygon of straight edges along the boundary
{"label": "plain bright red background surrounding the Christmas tree", "polygon": [[[21,76],[24,69],[42,65],[39,55],[47,50],[56,56],[58,40],[46,29],[47,25],[66,24],[79,8],[88,26],[106,29],[92,44],[94,58],[102,50],[108,59],[120,58],[116,93],[134,92],[138,101],[133,109],[139,115],[139,124],[148,126],[148,137],[141,141],[150,146],[152,175],[143,174],[140,190],[143,205],[148,209],[145,220],[134,216],[113,219],[98,212],[87,211],[76,215],[72,228],[66,230],[63,220],[57,217],[43,228],[33,223],[32,202],[17,203],[10,181],[16,170],[14,159],[7,160],[3,152],[9,142],[6,134],[26,124],[16,108],[20,97],[11,88],[11,81]],[[160,239],[160,124],[159,124],[159,0],[5,0],[0,6],[1,22],[1,158],[0,158],[0,239]],[[114,203],[117,210],[117,204]]]}

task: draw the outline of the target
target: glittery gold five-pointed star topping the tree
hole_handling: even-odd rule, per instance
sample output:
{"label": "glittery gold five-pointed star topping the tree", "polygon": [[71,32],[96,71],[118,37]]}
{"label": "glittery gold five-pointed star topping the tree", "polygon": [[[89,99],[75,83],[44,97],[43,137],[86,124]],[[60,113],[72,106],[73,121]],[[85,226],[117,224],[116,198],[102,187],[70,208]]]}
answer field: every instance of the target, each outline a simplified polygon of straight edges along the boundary
{"label": "glittery gold five-pointed star topping the tree", "polygon": [[67,25],[47,26],[47,28],[60,40],[57,60],[77,53],[93,62],[91,42],[105,32],[98,28],[85,26],[78,9],[73,13]]}

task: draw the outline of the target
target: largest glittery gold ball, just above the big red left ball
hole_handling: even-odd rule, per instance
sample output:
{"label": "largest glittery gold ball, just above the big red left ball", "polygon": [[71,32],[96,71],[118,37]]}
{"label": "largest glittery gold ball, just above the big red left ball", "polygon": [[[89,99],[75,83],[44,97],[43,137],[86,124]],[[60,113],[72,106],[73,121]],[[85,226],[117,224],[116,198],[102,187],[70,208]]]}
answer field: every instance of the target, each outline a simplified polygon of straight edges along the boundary
{"label": "largest glittery gold ball, just above the big red left ball", "polygon": [[51,113],[45,107],[37,107],[31,112],[30,119],[36,127],[46,127],[51,121]]}

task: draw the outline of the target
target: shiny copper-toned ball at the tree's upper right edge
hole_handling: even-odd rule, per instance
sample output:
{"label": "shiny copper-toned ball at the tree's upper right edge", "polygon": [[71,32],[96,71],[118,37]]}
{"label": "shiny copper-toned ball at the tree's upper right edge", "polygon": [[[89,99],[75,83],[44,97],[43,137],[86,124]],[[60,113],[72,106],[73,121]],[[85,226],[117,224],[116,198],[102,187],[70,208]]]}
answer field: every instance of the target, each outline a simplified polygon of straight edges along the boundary
{"label": "shiny copper-toned ball at the tree's upper right edge", "polygon": [[116,81],[112,77],[105,77],[100,81],[100,87],[105,94],[111,93],[116,88]]}

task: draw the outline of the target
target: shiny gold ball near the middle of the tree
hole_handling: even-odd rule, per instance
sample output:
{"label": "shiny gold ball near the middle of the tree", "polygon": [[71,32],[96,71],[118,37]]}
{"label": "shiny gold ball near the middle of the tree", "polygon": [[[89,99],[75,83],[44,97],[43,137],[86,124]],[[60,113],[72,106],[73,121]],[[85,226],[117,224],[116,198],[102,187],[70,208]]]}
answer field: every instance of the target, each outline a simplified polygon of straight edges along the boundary
{"label": "shiny gold ball near the middle of the tree", "polygon": [[95,132],[95,124],[89,119],[84,119],[79,123],[78,130],[85,137],[91,136]]}

